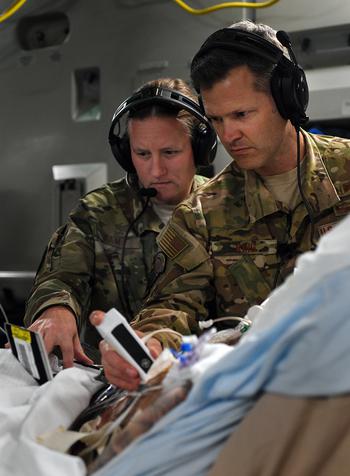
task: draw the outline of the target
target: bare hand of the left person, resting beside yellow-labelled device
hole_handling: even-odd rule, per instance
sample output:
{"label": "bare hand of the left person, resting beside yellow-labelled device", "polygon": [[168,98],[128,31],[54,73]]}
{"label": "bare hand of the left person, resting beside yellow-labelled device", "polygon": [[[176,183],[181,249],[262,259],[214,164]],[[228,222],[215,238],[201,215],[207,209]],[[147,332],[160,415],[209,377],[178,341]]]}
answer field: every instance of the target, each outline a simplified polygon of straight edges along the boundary
{"label": "bare hand of the left person, resting beside yellow-labelled device", "polygon": [[66,307],[49,307],[29,329],[42,335],[48,353],[54,347],[60,347],[64,367],[72,367],[73,359],[87,364],[93,363],[81,347],[75,316]]}

